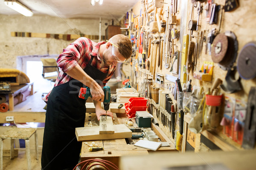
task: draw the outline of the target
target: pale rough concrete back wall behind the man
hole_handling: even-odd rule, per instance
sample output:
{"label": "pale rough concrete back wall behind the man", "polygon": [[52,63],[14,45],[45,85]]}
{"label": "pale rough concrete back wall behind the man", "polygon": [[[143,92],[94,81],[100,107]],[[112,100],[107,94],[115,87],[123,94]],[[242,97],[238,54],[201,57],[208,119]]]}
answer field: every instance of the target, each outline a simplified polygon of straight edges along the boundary
{"label": "pale rough concrete back wall behind the man", "polygon": [[[108,20],[102,20],[101,35],[105,35]],[[24,17],[0,15],[0,68],[20,68],[17,56],[59,55],[74,40],[54,38],[12,37],[11,32],[35,32],[48,34],[99,35],[99,20],[62,19],[47,15]],[[98,40],[95,40],[98,41]]]}

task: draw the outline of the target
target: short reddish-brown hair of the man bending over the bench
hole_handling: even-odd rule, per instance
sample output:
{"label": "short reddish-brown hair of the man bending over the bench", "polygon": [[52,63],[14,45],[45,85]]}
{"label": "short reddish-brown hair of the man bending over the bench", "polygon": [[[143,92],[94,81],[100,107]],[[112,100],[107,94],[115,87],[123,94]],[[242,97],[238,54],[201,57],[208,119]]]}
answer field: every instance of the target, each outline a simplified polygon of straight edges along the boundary
{"label": "short reddish-brown hair of the man bending over the bench", "polygon": [[131,57],[132,47],[129,37],[122,34],[117,34],[111,37],[109,41],[118,46],[118,51],[124,58],[128,59]]}

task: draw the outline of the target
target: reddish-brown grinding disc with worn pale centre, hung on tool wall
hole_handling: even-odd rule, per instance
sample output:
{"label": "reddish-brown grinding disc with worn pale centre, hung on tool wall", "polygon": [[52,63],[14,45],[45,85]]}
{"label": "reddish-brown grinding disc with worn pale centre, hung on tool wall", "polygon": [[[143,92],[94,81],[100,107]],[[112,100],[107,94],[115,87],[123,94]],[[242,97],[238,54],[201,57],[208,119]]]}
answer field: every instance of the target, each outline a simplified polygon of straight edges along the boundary
{"label": "reddish-brown grinding disc with worn pale centre, hung on tool wall", "polygon": [[228,48],[228,37],[224,33],[218,34],[212,42],[212,61],[220,63],[224,60]]}

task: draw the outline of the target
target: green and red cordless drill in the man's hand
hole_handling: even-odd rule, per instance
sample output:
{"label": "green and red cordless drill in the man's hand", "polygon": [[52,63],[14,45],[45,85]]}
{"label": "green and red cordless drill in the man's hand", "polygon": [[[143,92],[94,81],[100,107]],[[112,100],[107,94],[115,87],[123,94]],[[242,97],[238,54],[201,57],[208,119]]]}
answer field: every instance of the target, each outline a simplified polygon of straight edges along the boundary
{"label": "green and red cordless drill in the man's hand", "polygon": [[[104,92],[103,105],[104,105],[104,110],[106,110],[106,117],[107,117],[107,111],[109,109],[109,104],[110,104],[110,100],[111,100],[110,86],[104,86],[103,92]],[[81,87],[79,90],[78,97],[83,98],[85,100],[87,100],[88,97],[92,97],[92,95],[90,93],[90,88],[89,87],[86,87],[86,88]]]}

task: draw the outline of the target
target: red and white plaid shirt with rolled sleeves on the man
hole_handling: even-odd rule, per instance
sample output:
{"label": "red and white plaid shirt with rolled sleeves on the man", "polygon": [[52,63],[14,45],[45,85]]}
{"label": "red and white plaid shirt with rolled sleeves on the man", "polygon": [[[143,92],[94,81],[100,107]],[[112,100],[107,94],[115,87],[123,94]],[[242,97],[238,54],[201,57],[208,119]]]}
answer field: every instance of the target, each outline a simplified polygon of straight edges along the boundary
{"label": "red and white plaid shirt with rolled sleeves on the man", "polygon": [[[94,56],[91,65],[99,69],[101,72],[108,73],[107,77],[103,81],[103,85],[105,86],[113,75],[116,66],[104,66],[103,58],[99,56],[99,46],[104,43],[104,41],[95,43],[88,38],[80,37],[75,40],[75,42],[67,46],[66,49],[63,49],[63,52],[57,59],[57,64],[61,68],[61,72],[59,73],[54,86],[58,86],[70,81],[71,77],[65,72],[73,69],[76,64],[79,64],[79,66],[84,69],[89,63],[91,55]],[[43,98],[46,103],[50,93],[51,91]]]}

